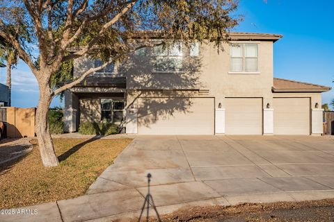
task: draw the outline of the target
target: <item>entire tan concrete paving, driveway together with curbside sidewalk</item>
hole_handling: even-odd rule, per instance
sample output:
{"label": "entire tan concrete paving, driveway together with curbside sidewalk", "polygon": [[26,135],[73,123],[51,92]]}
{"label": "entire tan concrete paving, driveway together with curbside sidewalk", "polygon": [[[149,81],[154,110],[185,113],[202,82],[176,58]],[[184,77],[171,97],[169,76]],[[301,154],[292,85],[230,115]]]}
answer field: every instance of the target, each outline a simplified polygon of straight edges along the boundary
{"label": "entire tan concrete paving, driveway together with curbside sidewalk", "polygon": [[147,173],[152,174],[150,193],[159,214],[189,205],[334,198],[334,140],[138,136],[86,195],[22,207],[38,214],[0,215],[0,221],[111,221],[138,216],[147,194]]}

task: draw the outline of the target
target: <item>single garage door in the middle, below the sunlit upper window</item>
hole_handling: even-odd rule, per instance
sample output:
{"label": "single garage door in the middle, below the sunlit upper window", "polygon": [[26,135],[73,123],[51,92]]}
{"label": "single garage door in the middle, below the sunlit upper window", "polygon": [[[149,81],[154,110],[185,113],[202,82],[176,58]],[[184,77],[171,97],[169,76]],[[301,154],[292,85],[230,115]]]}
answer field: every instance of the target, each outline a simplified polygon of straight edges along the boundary
{"label": "single garage door in the middle, below the sunlit upper window", "polygon": [[262,135],[262,98],[225,99],[225,133]]}

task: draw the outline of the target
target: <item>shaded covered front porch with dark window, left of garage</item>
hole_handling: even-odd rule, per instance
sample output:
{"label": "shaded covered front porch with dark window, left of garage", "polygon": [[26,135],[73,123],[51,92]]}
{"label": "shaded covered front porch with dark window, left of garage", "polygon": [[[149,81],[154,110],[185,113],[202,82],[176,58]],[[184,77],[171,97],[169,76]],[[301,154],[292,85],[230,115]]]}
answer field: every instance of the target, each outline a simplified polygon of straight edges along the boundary
{"label": "shaded covered front porch with dark window, left of garage", "polygon": [[125,78],[90,78],[65,92],[64,130],[74,133],[83,122],[120,125],[125,119]]}

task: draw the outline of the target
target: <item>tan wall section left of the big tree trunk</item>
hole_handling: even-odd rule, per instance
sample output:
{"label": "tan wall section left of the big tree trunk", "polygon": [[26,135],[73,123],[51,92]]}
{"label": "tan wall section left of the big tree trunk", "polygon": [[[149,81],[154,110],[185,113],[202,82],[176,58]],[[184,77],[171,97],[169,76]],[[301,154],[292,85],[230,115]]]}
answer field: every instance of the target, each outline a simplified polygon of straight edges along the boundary
{"label": "tan wall section left of the big tree trunk", "polygon": [[35,137],[35,108],[6,108],[7,137]]}

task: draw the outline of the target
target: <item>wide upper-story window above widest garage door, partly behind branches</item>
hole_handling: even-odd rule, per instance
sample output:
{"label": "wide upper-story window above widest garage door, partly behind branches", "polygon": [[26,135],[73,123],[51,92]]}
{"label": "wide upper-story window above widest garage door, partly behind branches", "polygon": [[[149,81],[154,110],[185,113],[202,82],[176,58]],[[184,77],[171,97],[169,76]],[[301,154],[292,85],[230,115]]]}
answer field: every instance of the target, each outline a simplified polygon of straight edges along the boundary
{"label": "wide upper-story window above widest garage door, partly behind branches", "polygon": [[164,49],[163,46],[154,46],[154,71],[180,71],[182,69],[182,44],[176,43]]}

